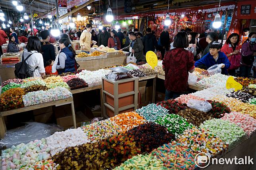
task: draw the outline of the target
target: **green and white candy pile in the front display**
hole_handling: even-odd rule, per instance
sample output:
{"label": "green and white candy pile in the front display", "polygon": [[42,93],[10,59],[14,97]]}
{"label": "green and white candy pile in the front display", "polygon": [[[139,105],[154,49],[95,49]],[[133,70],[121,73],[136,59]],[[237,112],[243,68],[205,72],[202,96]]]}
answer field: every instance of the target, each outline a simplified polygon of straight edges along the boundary
{"label": "green and white candy pile in the front display", "polygon": [[166,127],[167,130],[172,134],[175,134],[175,136],[182,134],[187,128],[193,127],[193,125],[188,123],[186,119],[175,114],[165,115],[164,117],[159,116],[155,123]]}

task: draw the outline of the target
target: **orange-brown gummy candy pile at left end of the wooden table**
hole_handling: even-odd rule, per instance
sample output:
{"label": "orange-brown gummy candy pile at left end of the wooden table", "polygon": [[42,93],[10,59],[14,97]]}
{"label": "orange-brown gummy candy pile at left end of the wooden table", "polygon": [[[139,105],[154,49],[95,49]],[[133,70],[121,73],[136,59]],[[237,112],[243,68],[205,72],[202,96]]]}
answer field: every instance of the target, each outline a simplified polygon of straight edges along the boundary
{"label": "orange-brown gummy candy pile at left end of the wooden table", "polygon": [[0,97],[0,111],[23,108],[22,96],[25,94],[24,89],[13,88],[5,91]]}

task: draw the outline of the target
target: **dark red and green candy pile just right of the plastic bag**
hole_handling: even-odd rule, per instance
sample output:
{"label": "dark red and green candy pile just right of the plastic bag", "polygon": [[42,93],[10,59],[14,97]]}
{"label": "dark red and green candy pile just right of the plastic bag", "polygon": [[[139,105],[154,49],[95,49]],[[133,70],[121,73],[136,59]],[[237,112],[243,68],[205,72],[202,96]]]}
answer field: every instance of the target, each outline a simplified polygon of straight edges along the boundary
{"label": "dark red and green candy pile just right of the plastic bag", "polygon": [[225,113],[230,113],[231,110],[223,103],[207,100],[211,104],[212,109],[208,112],[213,118],[221,118]]}

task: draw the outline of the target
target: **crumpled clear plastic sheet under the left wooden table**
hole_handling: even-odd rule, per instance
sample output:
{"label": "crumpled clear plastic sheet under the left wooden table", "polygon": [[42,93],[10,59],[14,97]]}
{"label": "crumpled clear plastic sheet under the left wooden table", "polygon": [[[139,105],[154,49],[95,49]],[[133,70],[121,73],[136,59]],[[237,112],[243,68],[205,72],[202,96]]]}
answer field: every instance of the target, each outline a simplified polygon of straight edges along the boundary
{"label": "crumpled clear plastic sheet under the left wooden table", "polygon": [[12,145],[16,146],[21,143],[27,144],[36,139],[41,140],[42,138],[47,138],[55,132],[62,130],[62,127],[54,124],[47,125],[38,122],[26,122],[25,127],[8,130],[4,138],[0,141],[0,147],[6,146],[9,148],[12,147]]}

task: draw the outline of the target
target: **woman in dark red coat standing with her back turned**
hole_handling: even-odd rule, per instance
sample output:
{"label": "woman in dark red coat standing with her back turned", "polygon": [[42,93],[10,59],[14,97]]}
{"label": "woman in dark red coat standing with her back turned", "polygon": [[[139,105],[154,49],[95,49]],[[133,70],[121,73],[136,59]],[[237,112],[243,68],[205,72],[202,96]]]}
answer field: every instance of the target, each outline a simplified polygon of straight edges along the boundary
{"label": "woman in dark red coat standing with her back turned", "polygon": [[174,49],[165,53],[165,100],[177,98],[188,89],[188,72],[195,69],[194,55],[185,49],[188,45],[187,33],[178,32],[173,42]]}

